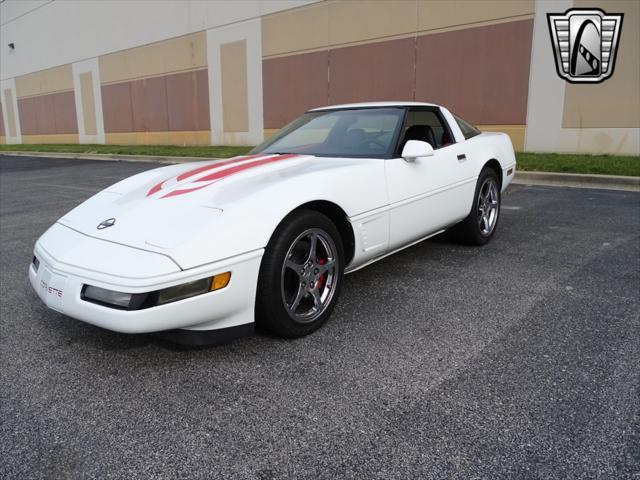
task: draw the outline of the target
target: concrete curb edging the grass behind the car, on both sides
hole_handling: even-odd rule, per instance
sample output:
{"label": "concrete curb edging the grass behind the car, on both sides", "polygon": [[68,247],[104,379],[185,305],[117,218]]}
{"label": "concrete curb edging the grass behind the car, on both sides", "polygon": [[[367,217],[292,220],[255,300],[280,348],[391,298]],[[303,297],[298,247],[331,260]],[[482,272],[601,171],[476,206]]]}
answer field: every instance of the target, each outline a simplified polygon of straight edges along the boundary
{"label": "concrete curb edging the grass behind the car, on both sides", "polygon": [[[103,160],[110,162],[144,163],[188,163],[204,160],[217,160],[214,157],[160,157],[144,155],[85,154],[85,153],[47,153],[47,152],[0,152],[0,156],[72,158],[81,160]],[[602,188],[606,190],[625,190],[640,192],[640,177],[620,175],[585,175],[580,173],[525,172],[516,171],[514,184],[542,185],[553,187]]]}

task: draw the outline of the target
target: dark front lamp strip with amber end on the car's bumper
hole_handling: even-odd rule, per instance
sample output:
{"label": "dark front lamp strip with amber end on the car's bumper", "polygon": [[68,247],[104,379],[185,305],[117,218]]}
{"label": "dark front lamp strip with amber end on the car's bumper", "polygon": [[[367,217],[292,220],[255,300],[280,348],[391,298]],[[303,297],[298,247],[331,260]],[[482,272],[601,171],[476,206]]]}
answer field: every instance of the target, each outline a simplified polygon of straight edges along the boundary
{"label": "dark front lamp strip with amber end on the car's bumper", "polygon": [[193,282],[174,285],[148,293],[124,293],[105,288],[84,285],[81,298],[87,302],[97,303],[120,310],[143,310],[145,308],[165,305],[203,293],[221,290],[229,285],[231,272],[224,272],[213,277],[201,278]]}

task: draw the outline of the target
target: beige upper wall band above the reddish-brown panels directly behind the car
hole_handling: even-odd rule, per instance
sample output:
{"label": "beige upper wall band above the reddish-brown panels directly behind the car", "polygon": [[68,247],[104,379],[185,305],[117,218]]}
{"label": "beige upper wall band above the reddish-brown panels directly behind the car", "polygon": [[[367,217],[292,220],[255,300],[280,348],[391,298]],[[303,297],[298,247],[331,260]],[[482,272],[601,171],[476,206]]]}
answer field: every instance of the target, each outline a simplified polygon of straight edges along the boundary
{"label": "beige upper wall band above the reddish-brown panels directly behind the car", "polygon": [[326,0],[262,17],[271,58],[533,18],[534,0]]}

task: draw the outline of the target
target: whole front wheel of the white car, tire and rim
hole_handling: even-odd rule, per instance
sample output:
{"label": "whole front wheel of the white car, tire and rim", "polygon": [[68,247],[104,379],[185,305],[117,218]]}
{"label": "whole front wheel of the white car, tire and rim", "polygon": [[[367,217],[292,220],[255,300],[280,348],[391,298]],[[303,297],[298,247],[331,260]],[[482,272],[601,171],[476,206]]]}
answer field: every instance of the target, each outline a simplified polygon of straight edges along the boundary
{"label": "whole front wheel of the white car, tire and rim", "polygon": [[344,252],[338,229],[321,213],[300,210],[265,250],[256,298],[258,325],[297,338],[318,329],[338,300]]}

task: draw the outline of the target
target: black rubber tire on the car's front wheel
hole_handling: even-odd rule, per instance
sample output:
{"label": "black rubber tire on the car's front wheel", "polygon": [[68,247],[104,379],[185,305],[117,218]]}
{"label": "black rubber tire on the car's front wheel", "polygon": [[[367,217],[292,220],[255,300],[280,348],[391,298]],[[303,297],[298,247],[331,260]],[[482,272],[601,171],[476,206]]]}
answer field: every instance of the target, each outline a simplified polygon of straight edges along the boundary
{"label": "black rubber tire on the car's front wheel", "polygon": [[[303,236],[310,231],[309,237]],[[303,280],[309,279],[307,275],[314,275],[314,269],[312,268],[314,265],[309,265],[310,268],[305,269],[304,273],[301,274],[295,269],[292,271],[287,270],[289,267],[285,267],[285,260],[288,259],[288,255],[292,255],[289,260],[293,259],[294,251],[298,245],[308,242],[310,246],[313,235],[316,235],[316,244],[319,245],[319,247],[317,247],[318,252],[334,250],[331,255],[326,253],[325,256],[328,259],[333,258],[335,260],[335,264],[333,264],[335,268],[326,272],[324,280],[314,276],[311,278],[311,282],[306,282],[307,288],[309,288],[308,286],[315,285],[313,290],[317,289],[318,295],[320,295],[320,288],[322,288],[320,287],[321,280],[325,282],[325,290],[323,290],[323,292],[327,291],[327,287],[329,287],[329,279],[332,283],[330,285],[330,291],[327,293],[326,304],[321,304],[322,310],[320,311],[320,308],[318,308],[318,311],[315,314],[310,314],[308,319],[301,319],[298,316],[299,314],[296,311],[296,307],[293,306],[297,297],[296,299],[291,299],[290,296],[289,302],[285,303],[287,302],[287,292],[292,296],[296,296],[296,294],[291,293],[295,290],[297,294],[299,294],[304,284]],[[326,248],[323,242],[326,243]],[[292,251],[292,249],[294,250]],[[305,253],[303,256],[309,259],[311,253]],[[314,257],[316,257],[316,255],[314,255]],[[315,263],[316,258],[314,258],[313,261]],[[321,259],[318,261],[321,261]],[[297,266],[298,261],[289,262],[288,264],[291,263],[295,263]],[[305,263],[304,260],[302,263],[300,267],[304,269],[307,263]],[[325,260],[325,263],[328,268],[328,264],[330,264],[331,261]],[[317,267],[318,265],[315,266]],[[320,268],[322,269],[322,266],[320,266]],[[320,275],[322,276],[322,274]],[[286,338],[298,338],[312,333],[331,315],[338,301],[343,276],[344,249],[340,233],[333,222],[327,216],[314,210],[297,210],[293,212],[282,221],[273,233],[262,257],[258,276],[258,291],[256,294],[257,325]],[[295,282],[299,283],[294,285]],[[289,285],[291,286],[290,288],[288,287]],[[300,310],[304,310],[304,307],[311,305],[311,303],[315,305],[316,300],[319,299],[319,297],[314,297],[311,292],[304,293],[304,295],[302,300],[299,301],[301,307],[298,308]],[[293,312],[290,311],[292,306]],[[311,309],[313,310],[313,308],[315,307],[312,305]]]}

